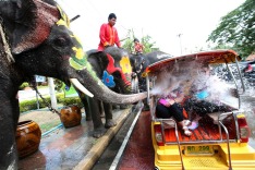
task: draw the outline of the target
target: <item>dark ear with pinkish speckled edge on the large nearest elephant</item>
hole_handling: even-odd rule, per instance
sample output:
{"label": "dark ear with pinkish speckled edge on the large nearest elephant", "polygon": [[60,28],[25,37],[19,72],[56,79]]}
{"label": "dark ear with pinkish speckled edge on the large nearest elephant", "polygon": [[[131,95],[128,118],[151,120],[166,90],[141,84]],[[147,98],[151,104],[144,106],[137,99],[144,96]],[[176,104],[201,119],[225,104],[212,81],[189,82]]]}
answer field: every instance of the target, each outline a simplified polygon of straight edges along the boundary
{"label": "dark ear with pinkish speckled edge on the large nearest elephant", "polygon": [[41,0],[17,0],[12,52],[17,54],[38,47],[60,19],[57,7]]}

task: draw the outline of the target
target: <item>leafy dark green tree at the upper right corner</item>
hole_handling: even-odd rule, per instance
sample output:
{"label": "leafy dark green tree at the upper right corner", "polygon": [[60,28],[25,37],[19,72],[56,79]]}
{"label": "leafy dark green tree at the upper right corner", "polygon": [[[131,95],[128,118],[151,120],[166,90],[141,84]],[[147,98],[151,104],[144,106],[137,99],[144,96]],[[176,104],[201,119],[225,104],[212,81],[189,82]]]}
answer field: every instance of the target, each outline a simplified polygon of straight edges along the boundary
{"label": "leafy dark green tree at the upper right corner", "polygon": [[219,26],[212,31],[208,41],[218,47],[230,46],[246,58],[255,51],[255,0],[246,0],[235,10],[221,17]]}

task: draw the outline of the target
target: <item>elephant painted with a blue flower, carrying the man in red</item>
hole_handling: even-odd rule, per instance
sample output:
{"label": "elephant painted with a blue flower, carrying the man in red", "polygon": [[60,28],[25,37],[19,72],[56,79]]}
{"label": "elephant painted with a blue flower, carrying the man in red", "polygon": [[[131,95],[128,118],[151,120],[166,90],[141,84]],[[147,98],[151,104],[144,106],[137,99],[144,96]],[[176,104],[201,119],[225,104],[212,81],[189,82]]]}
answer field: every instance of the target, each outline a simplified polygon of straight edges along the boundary
{"label": "elephant painted with a blue flower, carrying the man in red", "polygon": [[[125,49],[108,47],[105,51],[89,50],[87,51],[87,60],[97,73],[97,76],[111,90],[120,94],[131,94],[132,68],[129,52]],[[106,133],[106,129],[117,125],[112,120],[112,104],[102,102],[101,108],[100,100],[84,96],[78,90],[77,93],[85,108],[86,120],[92,119],[94,122],[94,137],[102,136]],[[105,111],[105,126],[100,117],[102,111]]]}

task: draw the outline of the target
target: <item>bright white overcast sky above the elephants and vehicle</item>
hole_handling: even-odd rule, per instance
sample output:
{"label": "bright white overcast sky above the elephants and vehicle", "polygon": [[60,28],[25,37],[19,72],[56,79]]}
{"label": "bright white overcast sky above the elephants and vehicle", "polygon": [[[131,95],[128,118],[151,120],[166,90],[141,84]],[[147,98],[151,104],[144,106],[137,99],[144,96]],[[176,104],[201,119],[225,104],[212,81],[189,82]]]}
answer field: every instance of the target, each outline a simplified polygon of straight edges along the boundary
{"label": "bright white overcast sky above the elephants and vehicle", "polygon": [[[220,19],[245,0],[57,0],[72,19],[71,29],[84,50],[96,49],[99,29],[116,13],[119,38],[130,29],[135,37],[150,36],[161,51],[173,56],[208,49],[208,36]],[[181,36],[178,36],[181,35]]]}

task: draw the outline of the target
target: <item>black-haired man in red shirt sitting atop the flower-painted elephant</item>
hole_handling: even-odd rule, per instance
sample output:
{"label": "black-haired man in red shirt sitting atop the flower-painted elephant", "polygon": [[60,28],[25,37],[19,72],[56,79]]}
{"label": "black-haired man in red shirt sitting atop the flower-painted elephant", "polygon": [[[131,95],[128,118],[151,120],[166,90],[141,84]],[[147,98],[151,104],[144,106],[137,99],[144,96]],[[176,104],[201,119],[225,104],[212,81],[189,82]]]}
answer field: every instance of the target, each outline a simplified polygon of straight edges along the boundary
{"label": "black-haired man in red shirt sitting atop the flower-painted elephant", "polygon": [[110,13],[108,16],[108,23],[101,25],[99,33],[100,42],[98,45],[99,51],[102,51],[105,48],[109,46],[117,45],[117,47],[121,47],[118,32],[114,27],[116,21],[117,21],[116,14]]}

